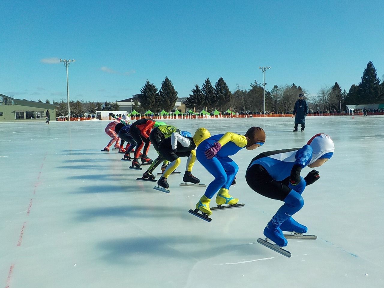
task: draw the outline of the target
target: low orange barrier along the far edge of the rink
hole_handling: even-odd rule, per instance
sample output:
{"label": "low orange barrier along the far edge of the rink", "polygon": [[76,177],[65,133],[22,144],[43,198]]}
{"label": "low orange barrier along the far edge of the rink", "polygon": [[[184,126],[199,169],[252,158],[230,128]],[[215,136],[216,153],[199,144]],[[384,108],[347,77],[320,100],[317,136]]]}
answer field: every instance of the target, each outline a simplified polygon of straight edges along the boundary
{"label": "low orange barrier along the far edge of the rink", "polygon": [[[315,116],[363,116],[364,114],[362,112],[360,113],[353,113],[353,114],[348,114],[348,113],[316,113],[316,114],[308,114],[307,116],[310,117],[315,117]],[[374,115],[384,115],[384,113],[374,113],[374,112],[368,112],[368,116],[374,116]],[[131,116],[131,120],[139,120],[142,118],[150,118],[154,120],[171,120],[171,119],[222,119],[222,118],[262,118],[262,117],[290,117],[293,118],[294,116],[292,114],[246,114],[246,115],[215,115],[215,116],[210,116],[210,115],[174,115],[174,116],[149,116],[149,115],[141,115],[141,116]],[[84,117],[71,117],[71,121],[94,121],[98,119],[91,119],[91,118],[84,118]],[[113,120],[109,119],[108,117],[102,117],[101,120]],[[68,121],[67,118],[57,118],[57,121]]]}

